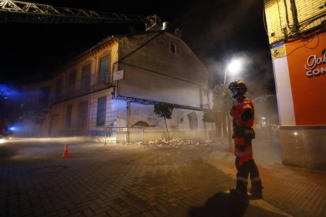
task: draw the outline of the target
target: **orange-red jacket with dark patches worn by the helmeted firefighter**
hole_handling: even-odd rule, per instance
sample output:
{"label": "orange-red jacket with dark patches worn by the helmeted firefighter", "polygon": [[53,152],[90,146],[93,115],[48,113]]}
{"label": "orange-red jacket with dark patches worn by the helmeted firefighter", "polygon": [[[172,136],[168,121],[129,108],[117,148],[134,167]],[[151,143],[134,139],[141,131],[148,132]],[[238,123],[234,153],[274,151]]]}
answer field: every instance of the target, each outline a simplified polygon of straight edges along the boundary
{"label": "orange-red jacket with dark patches worn by the helmeted firefighter", "polygon": [[233,129],[252,127],[255,120],[254,104],[244,95],[241,95],[239,99],[237,99],[237,102],[237,106],[231,114],[233,117]]}

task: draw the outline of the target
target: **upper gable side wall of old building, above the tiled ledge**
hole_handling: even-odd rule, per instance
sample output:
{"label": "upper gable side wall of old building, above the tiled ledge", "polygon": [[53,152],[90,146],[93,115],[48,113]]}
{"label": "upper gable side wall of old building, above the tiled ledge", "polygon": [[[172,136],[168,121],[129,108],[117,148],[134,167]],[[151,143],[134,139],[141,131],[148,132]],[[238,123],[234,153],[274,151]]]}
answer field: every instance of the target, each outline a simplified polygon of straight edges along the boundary
{"label": "upper gable side wall of old building, above the tiled ledge", "polygon": [[[119,59],[156,34],[119,38]],[[176,45],[176,53],[170,51],[170,43]],[[122,96],[193,107],[208,101],[204,95],[208,86],[206,68],[180,38],[169,33],[161,34],[127,57],[119,69],[125,70],[125,78],[119,81]]]}

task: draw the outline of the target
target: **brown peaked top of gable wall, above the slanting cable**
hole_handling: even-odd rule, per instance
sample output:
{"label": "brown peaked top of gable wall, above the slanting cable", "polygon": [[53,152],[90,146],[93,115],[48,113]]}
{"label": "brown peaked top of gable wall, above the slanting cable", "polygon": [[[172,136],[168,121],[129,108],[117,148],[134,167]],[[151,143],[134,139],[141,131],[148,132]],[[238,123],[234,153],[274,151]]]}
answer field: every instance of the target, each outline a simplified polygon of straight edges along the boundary
{"label": "brown peaked top of gable wall, above the slanting cable", "polygon": [[[126,36],[119,38],[119,59],[134,51],[158,33]],[[176,45],[176,53],[170,51],[170,43]],[[178,37],[164,33],[127,57],[123,62],[137,67],[194,82],[208,84],[208,72],[199,59]]]}

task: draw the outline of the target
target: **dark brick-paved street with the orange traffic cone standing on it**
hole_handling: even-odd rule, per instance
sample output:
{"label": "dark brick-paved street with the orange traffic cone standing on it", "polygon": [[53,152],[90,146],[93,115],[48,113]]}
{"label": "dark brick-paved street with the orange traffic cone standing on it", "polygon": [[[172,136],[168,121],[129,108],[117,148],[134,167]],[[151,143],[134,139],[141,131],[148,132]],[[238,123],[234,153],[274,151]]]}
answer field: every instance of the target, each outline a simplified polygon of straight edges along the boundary
{"label": "dark brick-paved street with the orange traffic cone standing on it", "polygon": [[[71,157],[60,158],[63,150],[0,146],[0,216],[278,215],[224,193],[233,177],[206,162],[206,147],[69,144]],[[45,167],[63,169],[33,173]]]}

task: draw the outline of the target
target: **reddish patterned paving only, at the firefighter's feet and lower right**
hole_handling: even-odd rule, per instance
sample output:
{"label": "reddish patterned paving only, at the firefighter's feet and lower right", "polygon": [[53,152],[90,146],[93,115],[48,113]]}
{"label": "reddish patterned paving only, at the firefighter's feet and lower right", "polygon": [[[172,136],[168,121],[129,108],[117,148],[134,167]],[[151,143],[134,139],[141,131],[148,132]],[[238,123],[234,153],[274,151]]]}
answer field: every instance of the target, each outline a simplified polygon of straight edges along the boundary
{"label": "reddish patterned paving only, at the firefighter's feet and lower right", "polygon": [[[235,178],[237,171],[234,163],[214,159],[210,163]],[[273,205],[278,201],[283,206],[280,209],[293,215],[326,216],[325,171],[283,165],[257,166],[264,186],[264,200]],[[248,186],[251,186],[250,179]]]}

